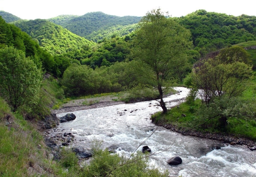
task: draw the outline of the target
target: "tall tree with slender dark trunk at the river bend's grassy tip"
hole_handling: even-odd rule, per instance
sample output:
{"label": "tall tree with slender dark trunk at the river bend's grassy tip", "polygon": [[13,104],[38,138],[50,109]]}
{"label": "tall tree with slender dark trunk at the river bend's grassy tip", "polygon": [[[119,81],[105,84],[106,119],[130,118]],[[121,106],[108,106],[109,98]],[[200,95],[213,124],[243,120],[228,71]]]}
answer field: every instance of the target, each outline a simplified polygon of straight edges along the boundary
{"label": "tall tree with slender dark trunk at the river bend's grassy tip", "polygon": [[167,18],[160,9],[148,12],[139,26],[134,40],[134,56],[144,65],[145,80],[158,90],[160,106],[166,113],[163,93],[169,87],[164,85],[164,81],[172,77],[170,73],[174,68],[186,63],[190,33],[172,18]]}

